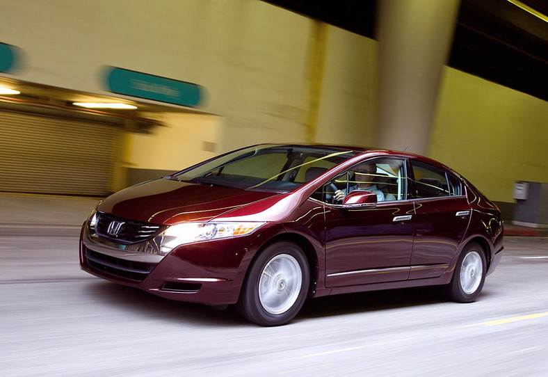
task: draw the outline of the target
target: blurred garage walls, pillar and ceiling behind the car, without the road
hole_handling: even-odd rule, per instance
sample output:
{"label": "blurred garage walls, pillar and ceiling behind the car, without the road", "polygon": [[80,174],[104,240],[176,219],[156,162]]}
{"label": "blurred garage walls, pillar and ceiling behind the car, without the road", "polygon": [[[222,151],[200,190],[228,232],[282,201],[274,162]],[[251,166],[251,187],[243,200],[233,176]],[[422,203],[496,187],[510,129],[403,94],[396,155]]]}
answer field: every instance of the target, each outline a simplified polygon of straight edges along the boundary
{"label": "blurred garage walls, pillar and ceiling behind the car, without the road", "polygon": [[[102,196],[264,142],[407,149],[506,218],[548,182],[540,0],[0,0],[0,191]],[[136,109],[86,109],[74,102]]]}

